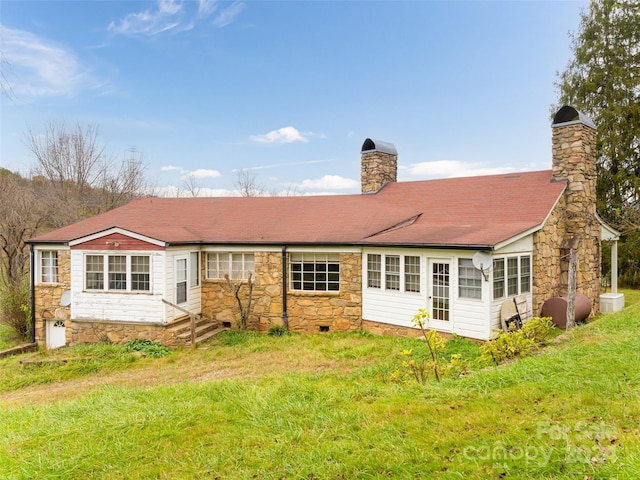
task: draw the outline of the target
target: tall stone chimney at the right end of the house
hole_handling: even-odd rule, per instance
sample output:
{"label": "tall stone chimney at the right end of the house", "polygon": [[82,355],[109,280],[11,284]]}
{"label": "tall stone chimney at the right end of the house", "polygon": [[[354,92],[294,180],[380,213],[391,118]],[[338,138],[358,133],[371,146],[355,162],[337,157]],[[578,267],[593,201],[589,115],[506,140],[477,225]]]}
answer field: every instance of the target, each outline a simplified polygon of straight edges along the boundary
{"label": "tall stone chimney at the right end of the house", "polygon": [[[553,178],[566,180],[564,202],[564,239],[561,248],[568,252],[577,242],[577,291],[593,302],[597,313],[600,298],[600,236],[596,215],[596,126],[573,107],[564,106],[552,124]],[[571,242],[571,243],[570,243]],[[566,250],[565,250],[566,249]],[[562,265],[562,289],[566,293],[567,265]]]}

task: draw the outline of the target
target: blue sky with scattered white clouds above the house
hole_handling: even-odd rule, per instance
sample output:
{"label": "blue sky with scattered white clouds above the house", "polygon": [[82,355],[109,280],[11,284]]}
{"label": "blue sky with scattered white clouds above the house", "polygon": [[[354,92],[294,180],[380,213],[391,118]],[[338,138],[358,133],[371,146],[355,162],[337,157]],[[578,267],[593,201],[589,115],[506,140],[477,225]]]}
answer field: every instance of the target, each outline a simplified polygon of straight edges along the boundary
{"label": "blue sky with scattered white clouds above the house", "polygon": [[97,125],[158,192],[357,193],[366,138],[399,179],[551,165],[556,72],[587,1],[0,0],[0,167],[28,130]]}

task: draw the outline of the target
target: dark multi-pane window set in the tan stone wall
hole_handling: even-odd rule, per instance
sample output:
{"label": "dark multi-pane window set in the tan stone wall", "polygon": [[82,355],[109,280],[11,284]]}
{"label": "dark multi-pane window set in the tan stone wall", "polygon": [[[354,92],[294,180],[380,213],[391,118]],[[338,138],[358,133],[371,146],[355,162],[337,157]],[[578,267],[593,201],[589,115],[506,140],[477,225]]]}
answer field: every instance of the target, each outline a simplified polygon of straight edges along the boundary
{"label": "dark multi-pane window set in the tan stone wall", "polygon": [[337,253],[292,253],[289,266],[292,290],[340,290],[340,256]]}

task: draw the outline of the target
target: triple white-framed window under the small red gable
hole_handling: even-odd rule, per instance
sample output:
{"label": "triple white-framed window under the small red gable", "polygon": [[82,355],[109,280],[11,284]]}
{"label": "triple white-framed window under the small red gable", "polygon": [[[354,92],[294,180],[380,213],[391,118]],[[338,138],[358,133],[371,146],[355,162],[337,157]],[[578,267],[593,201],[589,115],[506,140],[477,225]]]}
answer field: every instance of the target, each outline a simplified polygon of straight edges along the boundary
{"label": "triple white-framed window under the small red gable", "polygon": [[151,258],[148,255],[86,255],[84,264],[86,290],[151,290]]}

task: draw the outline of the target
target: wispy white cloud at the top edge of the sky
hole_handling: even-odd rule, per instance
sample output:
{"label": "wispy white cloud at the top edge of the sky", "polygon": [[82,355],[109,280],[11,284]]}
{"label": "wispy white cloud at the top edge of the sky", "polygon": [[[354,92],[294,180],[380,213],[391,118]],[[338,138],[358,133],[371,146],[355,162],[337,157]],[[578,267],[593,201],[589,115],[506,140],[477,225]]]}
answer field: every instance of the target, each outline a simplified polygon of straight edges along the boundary
{"label": "wispy white cloud at the top edge of the sky", "polygon": [[[194,9],[193,6],[197,5]],[[213,26],[222,28],[229,25],[240,14],[244,3],[233,2],[213,18]],[[218,2],[199,0],[158,0],[153,8],[130,13],[119,22],[111,22],[109,31],[120,35],[152,37],[165,32],[178,33],[191,30],[195,25],[218,12]]]}

